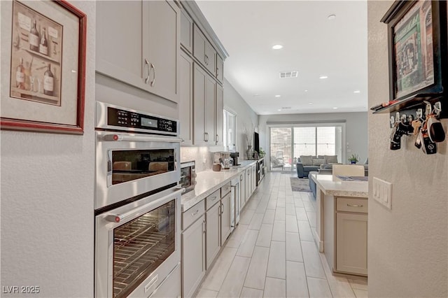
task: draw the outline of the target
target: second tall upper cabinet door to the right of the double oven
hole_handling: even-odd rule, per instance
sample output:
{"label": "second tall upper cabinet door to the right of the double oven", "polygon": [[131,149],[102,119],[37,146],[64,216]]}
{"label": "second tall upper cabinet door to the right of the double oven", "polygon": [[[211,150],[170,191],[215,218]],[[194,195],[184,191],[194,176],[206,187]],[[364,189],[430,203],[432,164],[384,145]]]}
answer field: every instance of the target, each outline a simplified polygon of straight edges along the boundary
{"label": "second tall upper cabinet door to the right of the double oven", "polygon": [[193,76],[193,130],[194,144],[207,145],[205,128],[205,78],[207,73],[194,63]]}

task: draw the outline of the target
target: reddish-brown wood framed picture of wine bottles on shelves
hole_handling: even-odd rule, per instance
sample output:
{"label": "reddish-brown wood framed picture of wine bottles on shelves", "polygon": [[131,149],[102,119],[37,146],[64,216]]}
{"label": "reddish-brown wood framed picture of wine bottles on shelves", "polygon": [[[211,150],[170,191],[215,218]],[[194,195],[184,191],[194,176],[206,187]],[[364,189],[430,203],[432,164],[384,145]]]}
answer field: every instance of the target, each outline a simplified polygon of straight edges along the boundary
{"label": "reddish-brown wood framed picture of wine bottles on shelves", "polygon": [[87,15],[64,0],[8,1],[6,18],[3,9],[0,128],[83,134]]}

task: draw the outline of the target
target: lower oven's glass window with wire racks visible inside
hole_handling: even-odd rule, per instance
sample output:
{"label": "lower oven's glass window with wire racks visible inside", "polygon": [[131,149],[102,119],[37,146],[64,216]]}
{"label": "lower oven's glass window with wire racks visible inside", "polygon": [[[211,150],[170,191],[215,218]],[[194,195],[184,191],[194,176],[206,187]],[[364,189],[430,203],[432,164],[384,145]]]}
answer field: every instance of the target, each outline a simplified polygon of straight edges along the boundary
{"label": "lower oven's glass window with wire racks visible inside", "polygon": [[127,297],[174,253],[174,200],[113,230],[113,297]]}

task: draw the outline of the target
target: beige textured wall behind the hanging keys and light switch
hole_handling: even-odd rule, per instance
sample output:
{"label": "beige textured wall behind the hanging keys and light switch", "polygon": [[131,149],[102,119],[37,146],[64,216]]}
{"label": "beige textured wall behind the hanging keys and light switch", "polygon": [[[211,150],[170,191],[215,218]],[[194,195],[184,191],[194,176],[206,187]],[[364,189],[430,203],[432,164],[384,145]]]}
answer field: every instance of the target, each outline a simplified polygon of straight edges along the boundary
{"label": "beige textured wall behind the hanging keys and light switch", "polygon": [[[379,22],[393,1],[368,1],[369,106],[388,100],[387,26]],[[388,149],[388,114],[369,113],[369,185],[393,183],[392,210],[369,197],[369,297],[448,297],[448,149],[436,155]],[[445,132],[448,121],[443,120]]]}

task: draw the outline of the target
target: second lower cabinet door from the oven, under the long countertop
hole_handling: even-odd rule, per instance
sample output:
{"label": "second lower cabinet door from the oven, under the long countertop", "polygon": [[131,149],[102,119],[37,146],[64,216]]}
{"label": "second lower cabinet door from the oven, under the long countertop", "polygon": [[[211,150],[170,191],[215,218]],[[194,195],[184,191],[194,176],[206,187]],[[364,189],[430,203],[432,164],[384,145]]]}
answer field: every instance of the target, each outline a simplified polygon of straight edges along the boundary
{"label": "second lower cabinet door from the oven, under the long countertop", "polygon": [[219,222],[221,220],[220,211],[221,204],[215,204],[213,207],[207,211],[207,227],[205,238],[206,240],[206,251],[207,251],[207,262],[206,269],[210,268],[211,263],[215,260],[216,255],[219,253],[220,249],[220,231],[219,231]]}

